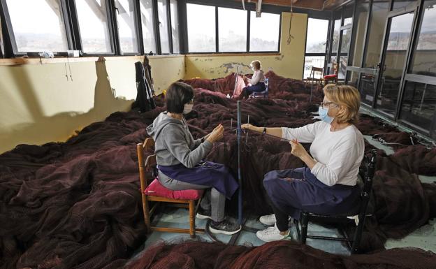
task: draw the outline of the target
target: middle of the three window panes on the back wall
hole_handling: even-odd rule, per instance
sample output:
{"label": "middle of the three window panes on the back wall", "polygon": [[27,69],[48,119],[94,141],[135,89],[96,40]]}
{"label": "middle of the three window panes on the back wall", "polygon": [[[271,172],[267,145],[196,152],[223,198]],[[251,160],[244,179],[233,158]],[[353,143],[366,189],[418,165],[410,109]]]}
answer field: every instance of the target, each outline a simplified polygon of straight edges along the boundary
{"label": "middle of the three window panes on the back wall", "polygon": [[218,8],[218,27],[220,52],[247,51],[247,11]]}

